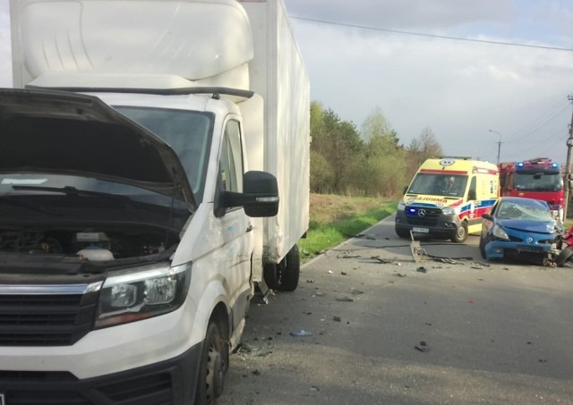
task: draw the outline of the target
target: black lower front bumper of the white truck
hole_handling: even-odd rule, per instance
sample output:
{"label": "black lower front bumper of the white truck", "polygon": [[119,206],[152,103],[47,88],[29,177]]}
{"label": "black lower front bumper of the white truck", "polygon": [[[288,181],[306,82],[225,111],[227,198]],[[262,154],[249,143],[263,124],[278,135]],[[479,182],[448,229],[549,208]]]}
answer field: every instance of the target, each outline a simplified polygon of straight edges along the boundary
{"label": "black lower front bumper of the white truck", "polygon": [[175,359],[78,379],[67,372],[0,370],[5,405],[192,405],[201,343]]}

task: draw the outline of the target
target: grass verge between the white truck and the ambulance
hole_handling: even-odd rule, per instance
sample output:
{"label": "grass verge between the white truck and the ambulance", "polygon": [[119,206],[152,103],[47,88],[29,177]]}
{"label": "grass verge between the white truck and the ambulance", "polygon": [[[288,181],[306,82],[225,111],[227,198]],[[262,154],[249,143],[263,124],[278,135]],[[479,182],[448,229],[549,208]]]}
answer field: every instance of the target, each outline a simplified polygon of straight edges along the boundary
{"label": "grass verge between the white truck and the ambulance", "polygon": [[301,258],[307,261],[363,232],[394,214],[396,206],[389,199],[311,194],[309,231],[298,242]]}

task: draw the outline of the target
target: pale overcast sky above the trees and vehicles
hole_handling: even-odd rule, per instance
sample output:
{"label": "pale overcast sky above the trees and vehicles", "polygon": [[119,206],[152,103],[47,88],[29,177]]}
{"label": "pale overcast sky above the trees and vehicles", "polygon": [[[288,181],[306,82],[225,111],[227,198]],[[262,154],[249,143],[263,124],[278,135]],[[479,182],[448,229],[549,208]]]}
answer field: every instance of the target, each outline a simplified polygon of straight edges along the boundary
{"label": "pale overcast sky above the trees and vehicles", "polygon": [[[449,156],[496,162],[501,140],[502,161],[547,156],[565,163],[573,111],[573,1],[285,3],[312,99],[359,130],[380,108],[406,146],[430,128]],[[8,0],[0,0],[3,87],[12,84],[9,32]]]}

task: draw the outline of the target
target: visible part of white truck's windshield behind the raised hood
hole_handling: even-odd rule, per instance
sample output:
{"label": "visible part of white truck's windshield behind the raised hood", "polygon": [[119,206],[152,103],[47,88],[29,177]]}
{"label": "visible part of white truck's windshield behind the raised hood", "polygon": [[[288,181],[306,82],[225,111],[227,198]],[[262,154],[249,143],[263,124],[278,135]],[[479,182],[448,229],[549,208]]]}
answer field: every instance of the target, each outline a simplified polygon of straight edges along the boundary
{"label": "visible part of white truck's windshield behind the raised hood", "polygon": [[114,108],[154,132],[175,150],[184,166],[193,195],[200,203],[209,162],[213,115],[168,108],[125,105],[114,105]]}

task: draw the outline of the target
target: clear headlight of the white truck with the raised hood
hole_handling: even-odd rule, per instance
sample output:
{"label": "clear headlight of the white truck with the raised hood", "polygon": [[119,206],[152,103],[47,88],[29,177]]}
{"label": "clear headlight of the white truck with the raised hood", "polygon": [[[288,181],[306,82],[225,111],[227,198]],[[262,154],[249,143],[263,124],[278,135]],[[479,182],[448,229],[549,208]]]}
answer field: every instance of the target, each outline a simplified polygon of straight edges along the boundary
{"label": "clear headlight of the white truck with the raised hood", "polygon": [[107,278],[99,293],[96,328],[126,324],[181,307],[191,278],[191,265],[165,264]]}

